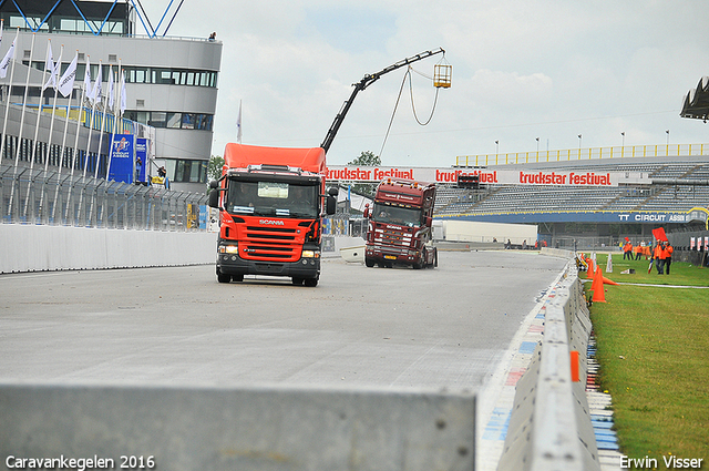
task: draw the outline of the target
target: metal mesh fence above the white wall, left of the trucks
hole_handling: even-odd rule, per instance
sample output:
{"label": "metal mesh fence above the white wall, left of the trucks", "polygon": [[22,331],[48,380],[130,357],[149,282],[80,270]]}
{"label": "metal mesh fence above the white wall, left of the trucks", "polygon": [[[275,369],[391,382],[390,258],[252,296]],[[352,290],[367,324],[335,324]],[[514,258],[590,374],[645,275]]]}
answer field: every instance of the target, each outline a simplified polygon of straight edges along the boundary
{"label": "metal mesh fence above the white wall, left of the trucks", "polygon": [[[206,194],[59,170],[0,166],[2,222],[154,231],[206,231]],[[202,206],[202,209],[201,209]]]}

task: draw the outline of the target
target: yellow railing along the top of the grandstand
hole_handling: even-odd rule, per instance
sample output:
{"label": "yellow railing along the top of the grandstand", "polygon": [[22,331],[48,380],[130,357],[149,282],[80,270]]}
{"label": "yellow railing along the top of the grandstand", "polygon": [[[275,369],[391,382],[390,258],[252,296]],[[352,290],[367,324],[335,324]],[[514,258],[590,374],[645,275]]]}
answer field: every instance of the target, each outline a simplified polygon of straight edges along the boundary
{"label": "yellow railing along the top of the grandstand", "polygon": [[679,157],[706,155],[709,144],[657,144],[616,147],[566,149],[557,151],[515,152],[510,154],[459,155],[458,166],[531,164],[540,162],[567,162],[593,158]]}

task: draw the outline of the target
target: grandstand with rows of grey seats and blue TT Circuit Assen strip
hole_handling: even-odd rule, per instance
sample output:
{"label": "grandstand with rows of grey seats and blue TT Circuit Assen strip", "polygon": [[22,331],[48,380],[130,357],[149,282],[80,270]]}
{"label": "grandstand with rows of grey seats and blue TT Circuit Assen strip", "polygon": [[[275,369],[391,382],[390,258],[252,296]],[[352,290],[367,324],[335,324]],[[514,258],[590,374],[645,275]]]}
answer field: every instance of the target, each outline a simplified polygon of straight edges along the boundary
{"label": "grandstand with rows of grey seats and blue TT Circuit Assen strip", "polygon": [[[706,228],[707,155],[531,162],[476,168],[481,167],[596,174],[639,172],[647,175],[647,183],[613,187],[497,184],[481,185],[476,190],[440,185],[434,212],[438,217],[545,224],[545,231],[541,232],[554,234],[568,233],[565,223],[595,223],[593,235],[608,235],[609,225],[617,223],[627,226],[626,233],[640,237],[650,236],[651,229],[659,225],[670,229]],[[616,228],[618,231],[624,228]]]}

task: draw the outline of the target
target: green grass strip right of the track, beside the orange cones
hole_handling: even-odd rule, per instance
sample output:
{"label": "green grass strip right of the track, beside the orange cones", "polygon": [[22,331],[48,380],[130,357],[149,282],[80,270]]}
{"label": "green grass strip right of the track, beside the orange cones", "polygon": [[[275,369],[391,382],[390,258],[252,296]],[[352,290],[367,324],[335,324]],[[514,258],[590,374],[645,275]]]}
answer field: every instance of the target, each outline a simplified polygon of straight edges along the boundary
{"label": "green grass strip right of the track, beside the orange cones", "polygon": [[[709,287],[709,269],[675,263],[671,275],[647,274],[648,262],[614,254],[617,283]],[[619,272],[635,268],[634,275]],[[585,275],[582,275],[582,278]],[[590,289],[590,285],[586,285]],[[605,285],[592,306],[600,387],[613,397],[620,451],[703,458],[709,469],[709,289]],[[590,295],[589,295],[590,297]]]}

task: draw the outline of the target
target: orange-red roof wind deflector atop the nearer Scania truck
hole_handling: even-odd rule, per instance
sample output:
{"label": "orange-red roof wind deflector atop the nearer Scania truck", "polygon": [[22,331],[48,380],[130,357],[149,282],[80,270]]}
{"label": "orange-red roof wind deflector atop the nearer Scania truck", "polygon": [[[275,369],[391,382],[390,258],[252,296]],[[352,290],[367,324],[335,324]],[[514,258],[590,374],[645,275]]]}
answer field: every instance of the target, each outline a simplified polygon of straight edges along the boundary
{"label": "orange-red roof wind deflector atop the nearer Scania truck", "polygon": [[229,143],[224,150],[227,168],[247,168],[249,165],[287,165],[306,172],[326,173],[325,151],[321,147],[264,147]]}

